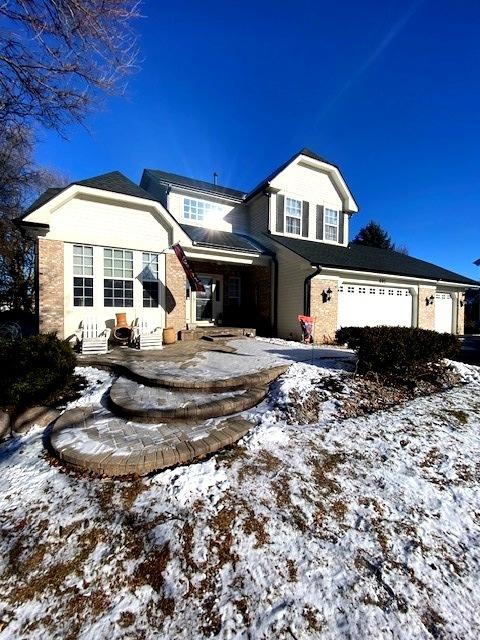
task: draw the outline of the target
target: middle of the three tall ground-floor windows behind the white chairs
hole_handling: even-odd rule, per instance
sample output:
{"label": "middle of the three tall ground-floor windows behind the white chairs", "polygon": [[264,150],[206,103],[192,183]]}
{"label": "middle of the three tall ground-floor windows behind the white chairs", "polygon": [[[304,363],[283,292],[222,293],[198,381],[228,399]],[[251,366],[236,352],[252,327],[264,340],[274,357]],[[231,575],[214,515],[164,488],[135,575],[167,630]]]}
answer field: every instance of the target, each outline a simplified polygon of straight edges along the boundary
{"label": "middle of the three tall ground-floor windows behind the white chairs", "polygon": [[105,306],[133,307],[133,251],[104,249],[103,271]]}

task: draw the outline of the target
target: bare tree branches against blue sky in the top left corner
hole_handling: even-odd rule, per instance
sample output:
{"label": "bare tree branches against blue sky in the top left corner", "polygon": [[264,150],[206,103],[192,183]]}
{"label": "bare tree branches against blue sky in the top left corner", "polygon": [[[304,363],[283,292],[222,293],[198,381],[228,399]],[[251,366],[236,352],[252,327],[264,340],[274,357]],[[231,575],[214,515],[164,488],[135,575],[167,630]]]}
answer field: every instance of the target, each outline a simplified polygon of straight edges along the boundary
{"label": "bare tree branches against blue sky in the top left corner", "polygon": [[0,2],[0,128],[61,131],[136,69],[139,0]]}

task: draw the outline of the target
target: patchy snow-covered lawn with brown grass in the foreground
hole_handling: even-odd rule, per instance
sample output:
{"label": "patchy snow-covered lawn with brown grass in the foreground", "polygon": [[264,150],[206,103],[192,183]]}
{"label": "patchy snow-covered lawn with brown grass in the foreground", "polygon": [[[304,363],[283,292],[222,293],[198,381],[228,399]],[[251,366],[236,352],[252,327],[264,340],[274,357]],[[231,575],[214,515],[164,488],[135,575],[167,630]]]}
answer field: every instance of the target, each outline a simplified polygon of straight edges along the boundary
{"label": "patchy snow-covered lawn with brown grass in the foreground", "polygon": [[[326,385],[300,426],[292,397],[342,372],[294,364],[242,443],[143,480],[69,475],[41,430],[2,445],[0,640],[477,639],[480,369],[459,370],[347,420]],[[79,402],[108,384],[88,375]]]}

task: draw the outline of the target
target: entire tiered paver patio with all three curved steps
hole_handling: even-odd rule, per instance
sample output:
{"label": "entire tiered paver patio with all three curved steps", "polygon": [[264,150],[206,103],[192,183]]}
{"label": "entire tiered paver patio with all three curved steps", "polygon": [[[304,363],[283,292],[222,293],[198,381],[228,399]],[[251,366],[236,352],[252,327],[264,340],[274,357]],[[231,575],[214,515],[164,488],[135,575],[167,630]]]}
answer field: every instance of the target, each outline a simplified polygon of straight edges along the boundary
{"label": "entire tiered paver patio with all three curved steps", "polygon": [[239,414],[258,404],[290,363],[313,358],[332,358],[344,366],[352,355],[228,338],[79,358],[120,377],[101,406],[60,416],[47,440],[65,462],[102,475],[144,475],[184,464],[244,436],[252,423]]}

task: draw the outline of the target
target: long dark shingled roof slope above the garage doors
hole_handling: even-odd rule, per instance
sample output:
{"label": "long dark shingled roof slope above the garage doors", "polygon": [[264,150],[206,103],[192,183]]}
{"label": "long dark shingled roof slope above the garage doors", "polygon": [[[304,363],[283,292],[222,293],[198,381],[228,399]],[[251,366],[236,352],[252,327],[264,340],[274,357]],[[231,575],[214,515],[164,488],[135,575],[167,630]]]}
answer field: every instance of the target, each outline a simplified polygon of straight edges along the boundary
{"label": "long dark shingled roof slope above the garage doors", "polygon": [[459,284],[478,285],[479,283],[453,271],[448,271],[431,262],[425,262],[398,251],[387,251],[376,247],[350,244],[348,247],[286,238],[265,233],[274,242],[290,249],[313,265],[334,267],[353,271],[371,271],[399,276],[441,280]]}

